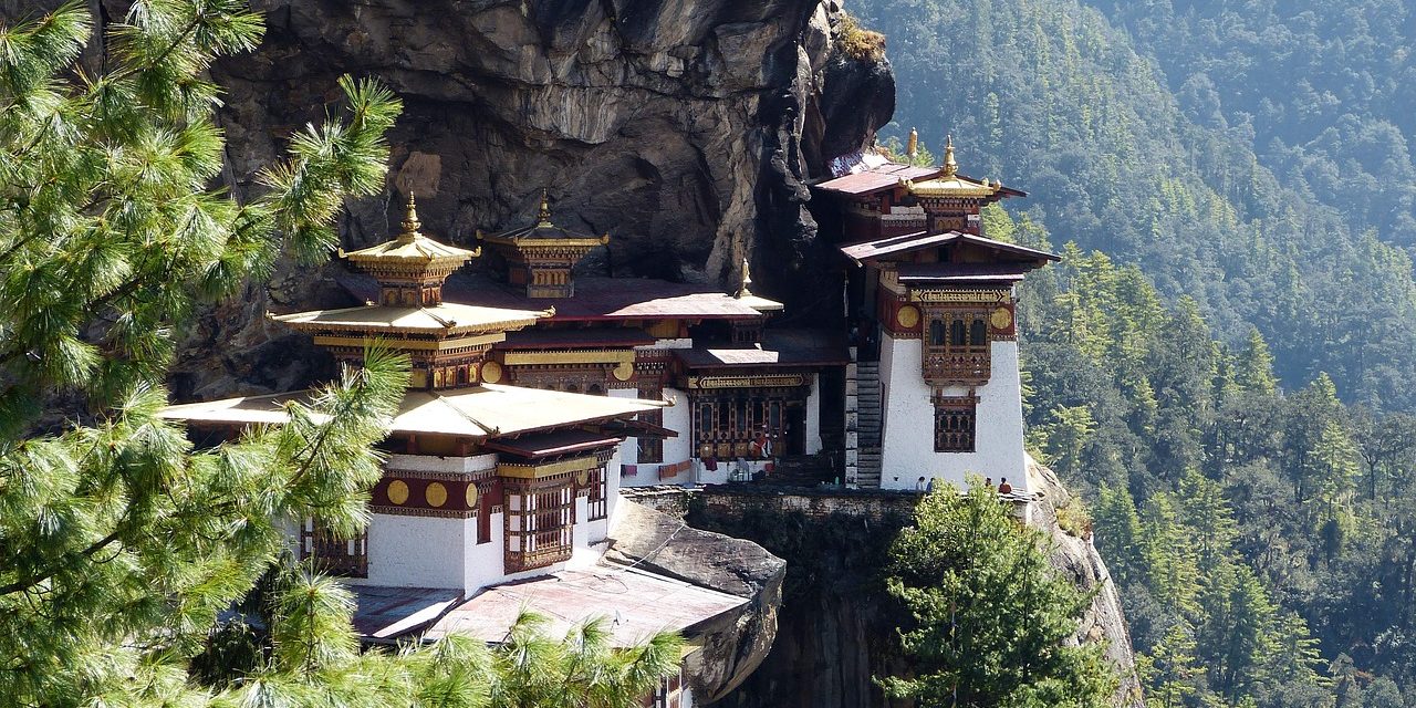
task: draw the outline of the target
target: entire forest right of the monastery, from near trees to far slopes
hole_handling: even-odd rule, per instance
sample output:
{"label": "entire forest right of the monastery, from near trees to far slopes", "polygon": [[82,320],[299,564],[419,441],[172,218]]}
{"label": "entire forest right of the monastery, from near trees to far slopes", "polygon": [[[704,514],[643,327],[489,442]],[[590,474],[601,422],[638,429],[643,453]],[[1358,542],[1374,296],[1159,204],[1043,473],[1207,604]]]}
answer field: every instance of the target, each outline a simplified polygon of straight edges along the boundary
{"label": "entire forest right of the monastery, from near trees to far slopes", "polygon": [[953,133],[1032,194],[990,235],[1063,253],[1024,292],[1028,443],[1090,503],[1151,705],[1416,705],[1410,17],[1226,4],[852,11],[893,133]]}

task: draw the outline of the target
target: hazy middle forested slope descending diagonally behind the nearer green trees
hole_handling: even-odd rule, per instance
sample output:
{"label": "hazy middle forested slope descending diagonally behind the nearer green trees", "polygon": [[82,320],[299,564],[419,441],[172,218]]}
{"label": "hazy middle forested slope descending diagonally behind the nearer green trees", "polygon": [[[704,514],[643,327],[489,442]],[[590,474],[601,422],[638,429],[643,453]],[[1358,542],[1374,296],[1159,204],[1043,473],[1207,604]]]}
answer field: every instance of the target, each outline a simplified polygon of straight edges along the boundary
{"label": "hazy middle forested slope descending diagonally behind the nearer green trees", "polygon": [[[1223,341],[1255,324],[1280,378],[1327,372],[1348,401],[1416,404],[1405,252],[1264,169],[1238,129],[1189,120],[1154,59],[1072,0],[864,0],[889,38],[896,130],[1028,190],[1056,241],[1138,263]],[[1354,184],[1352,188],[1359,188]]]}

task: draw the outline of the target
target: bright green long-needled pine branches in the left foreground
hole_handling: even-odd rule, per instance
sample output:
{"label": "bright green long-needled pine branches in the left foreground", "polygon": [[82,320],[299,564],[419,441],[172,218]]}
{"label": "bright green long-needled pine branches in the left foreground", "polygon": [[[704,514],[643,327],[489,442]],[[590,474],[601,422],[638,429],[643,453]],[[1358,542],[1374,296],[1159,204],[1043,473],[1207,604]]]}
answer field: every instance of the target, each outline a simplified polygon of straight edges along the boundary
{"label": "bright green long-needled pine branches in the left foreground", "polygon": [[[160,415],[167,367],[205,303],[279,258],[329,258],[343,202],[384,185],[399,102],[340,79],[337,118],[295,135],[258,194],[238,200],[215,181],[225,144],[207,69],[259,42],[245,0],[139,0],[108,28],[98,72],[79,65],[88,3],[7,21],[0,705],[629,707],[677,668],[670,634],[612,651],[603,623],[552,643],[531,617],[490,654],[462,639],[361,654],[348,592],[297,573],[263,653],[194,671],[217,615],[285,549],[287,523],[344,534],[367,523],[381,474],[371,445],[402,399],[406,360],[374,348],[309,406],[290,404],[289,423],[207,450]],[[524,675],[524,656],[551,661]],[[562,690],[547,698],[535,681]]]}

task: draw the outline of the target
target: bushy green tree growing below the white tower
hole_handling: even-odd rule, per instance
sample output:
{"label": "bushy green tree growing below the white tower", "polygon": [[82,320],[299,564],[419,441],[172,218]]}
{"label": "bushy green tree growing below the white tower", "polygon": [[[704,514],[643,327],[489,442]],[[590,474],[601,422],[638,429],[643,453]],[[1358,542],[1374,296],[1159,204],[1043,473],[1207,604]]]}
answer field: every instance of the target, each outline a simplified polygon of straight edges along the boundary
{"label": "bushy green tree growing below the white tower", "polygon": [[1090,602],[1048,565],[1039,531],[981,480],[926,496],[891,548],[889,592],[910,677],[885,692],[939,707],[1103,707],[1117,678],[1097,644],[1066,646]]}

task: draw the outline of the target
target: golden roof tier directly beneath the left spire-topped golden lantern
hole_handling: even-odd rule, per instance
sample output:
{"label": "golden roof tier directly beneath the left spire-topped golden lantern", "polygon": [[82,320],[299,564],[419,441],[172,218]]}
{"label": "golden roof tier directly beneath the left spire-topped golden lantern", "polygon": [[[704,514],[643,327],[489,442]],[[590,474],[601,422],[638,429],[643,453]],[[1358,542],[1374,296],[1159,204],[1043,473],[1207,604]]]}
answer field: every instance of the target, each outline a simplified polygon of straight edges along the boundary
{"label": "golden roof tier directly beneath the left spire-topped golden lantern", "polygon": [[477,331],[507,331],[530,327],[549,310],[511,310],[477,307],[473,304],[440,303],[429,307],[395,307],[364,304],[337,310],[310,310],[292,314],[272,314],[270,319],[297,330],[367,331],[371,334],[466,334]]}

